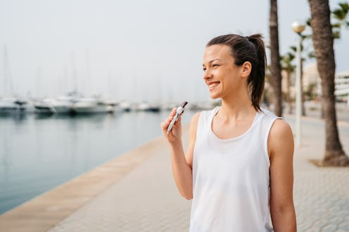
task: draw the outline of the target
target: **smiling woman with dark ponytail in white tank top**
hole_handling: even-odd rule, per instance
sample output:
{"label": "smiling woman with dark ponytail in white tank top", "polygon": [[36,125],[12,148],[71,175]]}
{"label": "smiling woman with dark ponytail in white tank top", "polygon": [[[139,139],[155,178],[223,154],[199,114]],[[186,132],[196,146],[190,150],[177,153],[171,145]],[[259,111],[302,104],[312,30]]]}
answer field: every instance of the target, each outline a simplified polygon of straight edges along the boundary
{"label": "smiling woman with dark ponytail in white tank top", "polygon": [[180,118],[167,135],[175,109],[161,123],[174,180],[193,199],[191,232],[296,231],[293,135],[260,107],[265,64],[260,34],[217,36],[205,48],[203,80],[222,106],[193,116],[186,153]]}

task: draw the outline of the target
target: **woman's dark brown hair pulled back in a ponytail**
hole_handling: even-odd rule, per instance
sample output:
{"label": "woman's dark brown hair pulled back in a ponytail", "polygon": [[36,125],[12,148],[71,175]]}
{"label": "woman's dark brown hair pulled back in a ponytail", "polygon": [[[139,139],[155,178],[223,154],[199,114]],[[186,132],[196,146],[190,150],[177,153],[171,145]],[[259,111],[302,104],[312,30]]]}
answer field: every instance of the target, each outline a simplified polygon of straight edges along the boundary
{"label": "woman's dark brown hair pulled back in a ponytail", "polygon": [[236,65],[241,66],[246,61],[252,64],[252,70],[247,80],[248,90],[250,91],[250,100],[253,107],[255,110],[260,111],[260,100],[264,90],[267,64],[262,35],[240,36],[238,34],[225,34],[211,39],[206,47],[215,44],[229,46],[231,48],[231,56],[234,57]]}

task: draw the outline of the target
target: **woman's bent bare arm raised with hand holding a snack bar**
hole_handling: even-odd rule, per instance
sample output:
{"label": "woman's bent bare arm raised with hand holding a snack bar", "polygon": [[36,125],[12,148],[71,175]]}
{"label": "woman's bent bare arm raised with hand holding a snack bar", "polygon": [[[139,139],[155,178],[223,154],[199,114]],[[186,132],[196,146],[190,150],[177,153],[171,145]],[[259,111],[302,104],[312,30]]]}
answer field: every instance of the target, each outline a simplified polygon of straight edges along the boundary
{"label": "woman's bent bare arm raised with hand holding a snack bar", "polygon": [[191,119],[189,128],[189,144],[186,154],[184,154],[182,144],[182,125],[181,117],[174,123],[174,126],[170,133],[167,135],[167,127],[172,121],[175,114],[175,110],[172,110],[170,116],[161,123],[161,129],[165,135],[167,142],[170,145],[172,172],[174,181],[177,184],[177,188],[181,195],[190,200],[193,198],[193,175],[192,175],[192,163],[193,163],[193,148],[196,140],[196,128],[198,124],[199,114],[195,114]]}

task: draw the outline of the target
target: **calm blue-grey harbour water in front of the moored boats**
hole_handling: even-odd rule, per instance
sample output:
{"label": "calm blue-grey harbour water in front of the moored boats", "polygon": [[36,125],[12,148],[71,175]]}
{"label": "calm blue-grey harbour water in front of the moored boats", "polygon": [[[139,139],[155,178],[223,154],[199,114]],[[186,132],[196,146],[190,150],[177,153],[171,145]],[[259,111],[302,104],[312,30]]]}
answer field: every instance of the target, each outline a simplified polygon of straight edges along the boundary
{"label": "calm blue-grey harbour water in front of the moored boats", "polygon": [[162,135],[168,114],[0,116],[0,214]]}

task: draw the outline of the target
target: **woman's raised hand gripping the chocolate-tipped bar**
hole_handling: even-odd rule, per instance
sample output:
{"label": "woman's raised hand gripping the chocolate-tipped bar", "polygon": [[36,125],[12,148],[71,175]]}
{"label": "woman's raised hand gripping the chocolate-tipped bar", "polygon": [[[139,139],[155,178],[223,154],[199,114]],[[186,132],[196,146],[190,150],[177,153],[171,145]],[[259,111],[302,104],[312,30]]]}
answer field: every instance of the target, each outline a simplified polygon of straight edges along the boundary
{"label": "woman's raised hand gripping the chocolate-tipped bar", "polygon": [[182,123],[181,118],[182,114],[179,116],[177,122],[174,123],[172,129],[167,134],[167,128],[170,125],[172,119],[176,115],[177,108],[172,109],[170,115],[161,123],[161,130],[163,130],[163,134],[165,135],[168,142],[176,142],[182,139]]}

